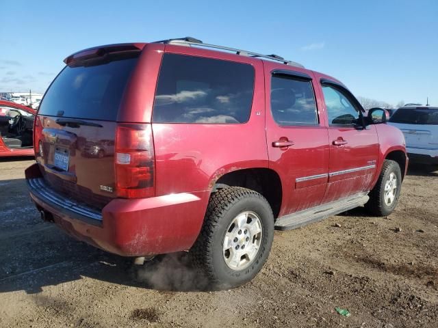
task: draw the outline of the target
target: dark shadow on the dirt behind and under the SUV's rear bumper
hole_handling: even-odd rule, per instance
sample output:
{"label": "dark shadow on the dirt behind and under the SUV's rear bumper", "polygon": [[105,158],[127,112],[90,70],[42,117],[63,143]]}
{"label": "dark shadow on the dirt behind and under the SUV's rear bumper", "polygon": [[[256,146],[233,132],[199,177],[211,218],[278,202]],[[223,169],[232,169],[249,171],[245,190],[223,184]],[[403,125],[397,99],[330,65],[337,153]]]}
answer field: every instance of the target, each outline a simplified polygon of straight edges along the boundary
{"label": "dark shadow on the dirt behind and under the SUV's rear bumper", "polygon": [[82,277],[157,290],[207,288],[186,252],[133,266],[132,258],[70,238],[54,223],[40,219],[23,178],[1,180],[0,200],[0,293],[36,293]]}

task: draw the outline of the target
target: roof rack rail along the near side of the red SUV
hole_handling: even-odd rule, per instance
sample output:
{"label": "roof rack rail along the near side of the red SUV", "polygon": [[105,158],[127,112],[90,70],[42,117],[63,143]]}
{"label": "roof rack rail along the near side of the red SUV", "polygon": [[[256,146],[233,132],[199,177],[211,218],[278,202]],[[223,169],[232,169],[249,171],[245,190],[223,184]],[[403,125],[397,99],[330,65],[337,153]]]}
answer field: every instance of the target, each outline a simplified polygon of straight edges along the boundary
{"label": "roof rack rail along the near side of the red SUV", "polygon": [[196,38],[192,38],[190,36],[186,36],[185,38],[160,40],[160,41],[155,41],[152,43],[181,44],[181,45],[187,45],[187,46],[201,46],[201,47],[205,47],[205,48],[220,49],[220,50],[224,50],[224,51],[231,51],[232,53],[236,53],[237,55],[261,57],[261,58],[271,59],[274,61],[281,61],[283,64],[286,64],[286,65],[298,66],[298,67],[304,68],[304,66],[297,63],[296,61],[286,60],[279,55],[274,55],[274,54],[262,55],[261,53],[254,53],[253,51],[235,49],[235,48],[230,48],[228,46],[218,46],[216,44],[207,44],[207,43],[202,42],[201,40],[198,40]]}

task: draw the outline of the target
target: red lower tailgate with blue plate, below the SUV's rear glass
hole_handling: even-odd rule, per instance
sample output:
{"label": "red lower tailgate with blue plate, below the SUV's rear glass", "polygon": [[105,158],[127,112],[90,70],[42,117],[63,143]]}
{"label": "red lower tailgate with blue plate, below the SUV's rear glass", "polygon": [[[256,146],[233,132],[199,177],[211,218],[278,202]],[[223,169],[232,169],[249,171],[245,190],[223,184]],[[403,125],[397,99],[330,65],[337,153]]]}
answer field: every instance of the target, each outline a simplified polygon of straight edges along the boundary
{"label": "red lower tailgate with blue plate, below the SUV's rear glass", "polygon": [[[38,115],[42,126],[38,161],[44,180],[56,191],[103,208],[114,188],[115,122],[90,121],[95,126],[72,128],[56,123],[56,119]],[[111,140],[112,146],[103,146]]]}

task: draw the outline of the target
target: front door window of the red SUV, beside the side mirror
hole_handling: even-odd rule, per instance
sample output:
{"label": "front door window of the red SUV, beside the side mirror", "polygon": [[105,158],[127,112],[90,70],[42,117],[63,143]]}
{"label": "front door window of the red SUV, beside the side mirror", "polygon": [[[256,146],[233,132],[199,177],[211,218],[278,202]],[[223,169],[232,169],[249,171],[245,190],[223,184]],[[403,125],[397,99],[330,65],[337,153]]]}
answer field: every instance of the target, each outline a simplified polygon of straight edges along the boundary
{"label": "front door window of the red SUV, beside the side mirror", "polygon": [[329,116],[329,125],[352,125],[359,118],[359,112],[350,100],[330,85],[322,85],[324,101]]}

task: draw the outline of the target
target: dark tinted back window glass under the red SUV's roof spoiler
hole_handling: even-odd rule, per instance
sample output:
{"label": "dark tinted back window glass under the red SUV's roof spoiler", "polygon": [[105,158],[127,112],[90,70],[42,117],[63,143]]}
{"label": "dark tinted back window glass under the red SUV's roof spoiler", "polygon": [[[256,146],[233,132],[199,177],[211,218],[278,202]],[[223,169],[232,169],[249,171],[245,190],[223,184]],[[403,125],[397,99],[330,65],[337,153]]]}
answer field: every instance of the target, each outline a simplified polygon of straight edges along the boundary
{"label": "dark tinted back window glass under the red SUV's roof spoiler", "polygon": [[137,58],[114,55],[66,66],[47,90],[39,113],[55,116],[63,111],[62,117],[115,121]]}

